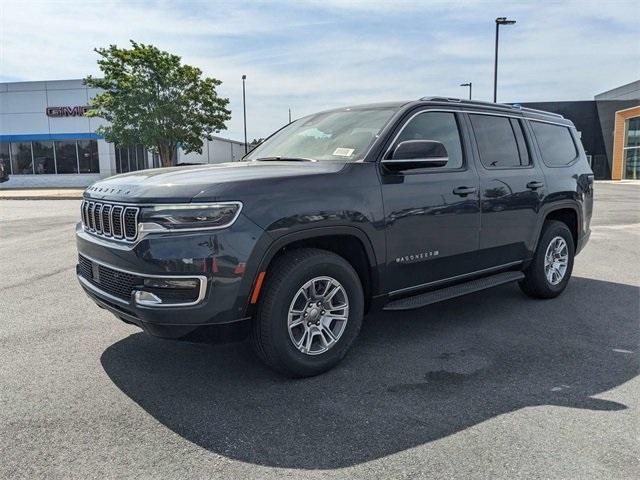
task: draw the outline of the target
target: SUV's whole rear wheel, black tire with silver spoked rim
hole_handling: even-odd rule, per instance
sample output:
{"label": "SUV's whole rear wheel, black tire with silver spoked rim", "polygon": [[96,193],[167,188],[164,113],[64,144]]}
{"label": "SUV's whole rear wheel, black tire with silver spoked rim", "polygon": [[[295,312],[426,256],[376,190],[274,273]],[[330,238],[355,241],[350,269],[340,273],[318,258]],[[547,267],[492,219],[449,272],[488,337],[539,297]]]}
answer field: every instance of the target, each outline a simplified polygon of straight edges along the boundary
{"label": "SUV's whole rear wheel, black tire with silver spoked rim", "polygon": [[535,298],[557,297],[569,283],[574,255],[569,228],[555,220],[545,222],[536,253],[524,272],[520,288]]}

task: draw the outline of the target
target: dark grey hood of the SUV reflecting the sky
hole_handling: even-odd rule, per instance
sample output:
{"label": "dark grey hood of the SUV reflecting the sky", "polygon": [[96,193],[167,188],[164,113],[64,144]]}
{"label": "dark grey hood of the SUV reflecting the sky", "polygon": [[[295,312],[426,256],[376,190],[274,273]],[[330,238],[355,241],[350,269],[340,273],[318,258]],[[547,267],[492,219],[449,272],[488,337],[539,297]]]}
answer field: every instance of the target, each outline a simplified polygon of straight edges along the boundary
{"label": "dark grey hood of the SUV reflecting the sky", "polygon": [[[94,183],[85,198],[125,203],[189,202],[194,197],[224,200],[231,185],[340,171],[343,162],[233,162],[156,168],[109,177]],[[233,190],[236,190],[233,188]]]}

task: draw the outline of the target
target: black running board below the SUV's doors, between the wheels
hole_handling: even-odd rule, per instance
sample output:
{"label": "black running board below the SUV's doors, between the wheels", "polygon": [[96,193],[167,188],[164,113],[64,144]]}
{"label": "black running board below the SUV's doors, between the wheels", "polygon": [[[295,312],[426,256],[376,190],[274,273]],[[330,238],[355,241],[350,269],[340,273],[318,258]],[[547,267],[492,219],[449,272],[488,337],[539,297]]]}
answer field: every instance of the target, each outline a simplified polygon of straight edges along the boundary
{"label": "black running board below the SUV's doors, between the wheels", "polygon": [[524,278],[522,272],[503,272],[490,277],[478,278],[469,282],[454,285],[452,287],[434,290],[432,292],[420,293],[413,297],[393,300],[384,306],[384,310],[412,310],[424,307],[432,303],[442,302],[450,298],[460,297],[468,293],[477,292],[486,288],[497,287],[503,283],[515,282]]}

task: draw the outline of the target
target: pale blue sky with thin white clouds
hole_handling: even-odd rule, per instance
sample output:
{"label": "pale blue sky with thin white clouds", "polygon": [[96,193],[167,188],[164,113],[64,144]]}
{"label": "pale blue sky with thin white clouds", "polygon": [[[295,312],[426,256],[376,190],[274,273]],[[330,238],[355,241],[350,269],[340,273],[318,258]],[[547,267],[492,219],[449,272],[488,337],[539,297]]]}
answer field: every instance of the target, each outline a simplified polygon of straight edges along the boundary
{"label": "pale blue sky with thin white clouds", "polygon": [[493,92],[498,101],[590,100],[640,79],[638,0],[0,0],[0,82],[99,75],[95,47],[129,39],[180,55],[223,83],[242,140],[333,107]]}

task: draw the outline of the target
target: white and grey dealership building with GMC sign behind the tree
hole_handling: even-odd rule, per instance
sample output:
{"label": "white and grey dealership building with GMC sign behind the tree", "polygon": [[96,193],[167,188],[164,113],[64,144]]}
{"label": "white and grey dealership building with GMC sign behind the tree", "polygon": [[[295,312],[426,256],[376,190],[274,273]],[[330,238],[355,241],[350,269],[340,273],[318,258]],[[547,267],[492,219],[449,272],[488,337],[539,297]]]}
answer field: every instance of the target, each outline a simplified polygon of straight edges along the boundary
{"label": "white and grey dealership building with GMC sign behind the tree", "polygon": [[[117,173],[158,167],[141,145],[118,146],[96,133],[104,123],[85,116],[98,90],[82,80],[0,83],[0,188],[85,187]],[[244,143],[214,137],[202,153],[178,149],[176,162],[221,163],[244,155]]]}

